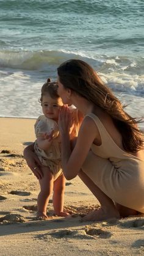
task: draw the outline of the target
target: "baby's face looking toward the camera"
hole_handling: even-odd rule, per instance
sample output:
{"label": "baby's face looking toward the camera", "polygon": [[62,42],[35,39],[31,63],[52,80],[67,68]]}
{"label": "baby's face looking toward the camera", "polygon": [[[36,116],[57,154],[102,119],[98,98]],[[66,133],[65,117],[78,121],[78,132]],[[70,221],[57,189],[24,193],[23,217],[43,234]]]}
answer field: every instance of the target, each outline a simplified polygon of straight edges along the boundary
{"label": "baby's face looking toward the camera", "polygon": [[63,106],[61,98],[51,98],[49,94],[43,95],[41,106],[46,117],[55,121],[59,119],[59,110]]}

